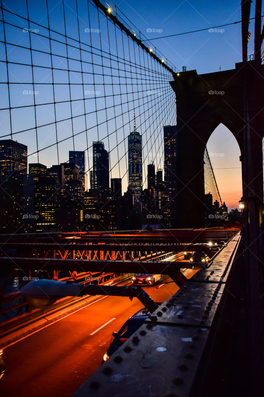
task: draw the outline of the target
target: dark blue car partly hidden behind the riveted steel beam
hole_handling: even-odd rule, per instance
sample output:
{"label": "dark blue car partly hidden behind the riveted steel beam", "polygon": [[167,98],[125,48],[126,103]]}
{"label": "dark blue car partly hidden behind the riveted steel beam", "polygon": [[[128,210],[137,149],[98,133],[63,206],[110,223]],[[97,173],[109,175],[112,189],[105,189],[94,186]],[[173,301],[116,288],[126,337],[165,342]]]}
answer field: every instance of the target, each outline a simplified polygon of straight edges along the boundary
{"label": "dark blue car partly hidden behind the riveted steel beam", "polygon": [[[157,303],[160,305],[161,303]],[[120,346],[131,336],[134,332],[138,330],[143,324],[143,322],[148,318],[151,313],[147,308],[138,310],[133,316],[128,318],[126,322],[122,325],[118,332],[113,332],[113,341],[111,341],[109,348],[103,356],[102,363],[107,361],[108,358],[119,349]]]}

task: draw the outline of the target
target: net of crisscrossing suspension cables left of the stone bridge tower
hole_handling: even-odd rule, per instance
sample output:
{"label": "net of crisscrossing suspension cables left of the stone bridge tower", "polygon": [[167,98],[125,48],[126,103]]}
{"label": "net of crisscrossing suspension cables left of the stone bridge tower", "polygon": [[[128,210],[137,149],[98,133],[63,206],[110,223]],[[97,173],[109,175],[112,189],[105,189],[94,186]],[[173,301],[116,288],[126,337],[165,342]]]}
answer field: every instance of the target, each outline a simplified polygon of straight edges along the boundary
{"label": "net of crisscrossing suspension cables left of the stone bridge tower", "polygon": [[126,189],[135,111],[144,189],[147,164],[163,168],[163,125],[176,124],[171,69],[93,1],[12,0],[1,11],[0,139],[27,145],[28,163],[47,166],[85,150],[88,187],[92,144],[102,141],[110,177]]}

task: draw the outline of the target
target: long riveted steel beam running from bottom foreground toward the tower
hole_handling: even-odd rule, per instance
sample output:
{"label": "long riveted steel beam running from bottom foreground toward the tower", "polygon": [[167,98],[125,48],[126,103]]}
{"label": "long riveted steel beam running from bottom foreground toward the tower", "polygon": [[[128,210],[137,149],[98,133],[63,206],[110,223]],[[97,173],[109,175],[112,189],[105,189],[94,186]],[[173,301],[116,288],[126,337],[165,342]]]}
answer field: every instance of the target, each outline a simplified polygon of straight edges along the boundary
{"label": "long riveted steel beam running from bottom foreground toward the tower", "polygon": [[239,240],[235,236],[209,268],[161,304],[72,397],[191,395],[212,326],[219,320],[216,314]]}

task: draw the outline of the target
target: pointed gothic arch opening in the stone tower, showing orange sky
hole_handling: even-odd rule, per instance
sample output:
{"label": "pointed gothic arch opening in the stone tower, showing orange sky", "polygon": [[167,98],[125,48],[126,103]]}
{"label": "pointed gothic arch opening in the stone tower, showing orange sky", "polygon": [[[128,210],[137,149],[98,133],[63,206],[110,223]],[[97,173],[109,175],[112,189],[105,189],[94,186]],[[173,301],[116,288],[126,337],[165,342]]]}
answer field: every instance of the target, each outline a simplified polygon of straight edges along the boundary
{"label": "pointed gothic arch opening in the stone tower, showing orange sky", "polygon": [[241,222],[240,155],[235,136],[220,123],[210,135],[205,149],[205,216],[206,225],[209,227],[222,224],[239,225]]}

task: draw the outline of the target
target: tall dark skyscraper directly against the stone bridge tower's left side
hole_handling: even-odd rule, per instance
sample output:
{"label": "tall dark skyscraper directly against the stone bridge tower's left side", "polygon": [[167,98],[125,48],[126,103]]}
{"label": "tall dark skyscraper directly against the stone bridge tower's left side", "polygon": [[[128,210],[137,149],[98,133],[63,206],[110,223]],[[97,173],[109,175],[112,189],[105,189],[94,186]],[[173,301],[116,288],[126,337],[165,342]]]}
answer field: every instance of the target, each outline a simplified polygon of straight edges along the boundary
{"label": "tall dark skyscraper directly against the stone bridge tower's left side", "polygon": [[164,182],[166,194],[170,199],[176,196],[177,184],[177,127],[176,125],[165,125],[164,132]]}

